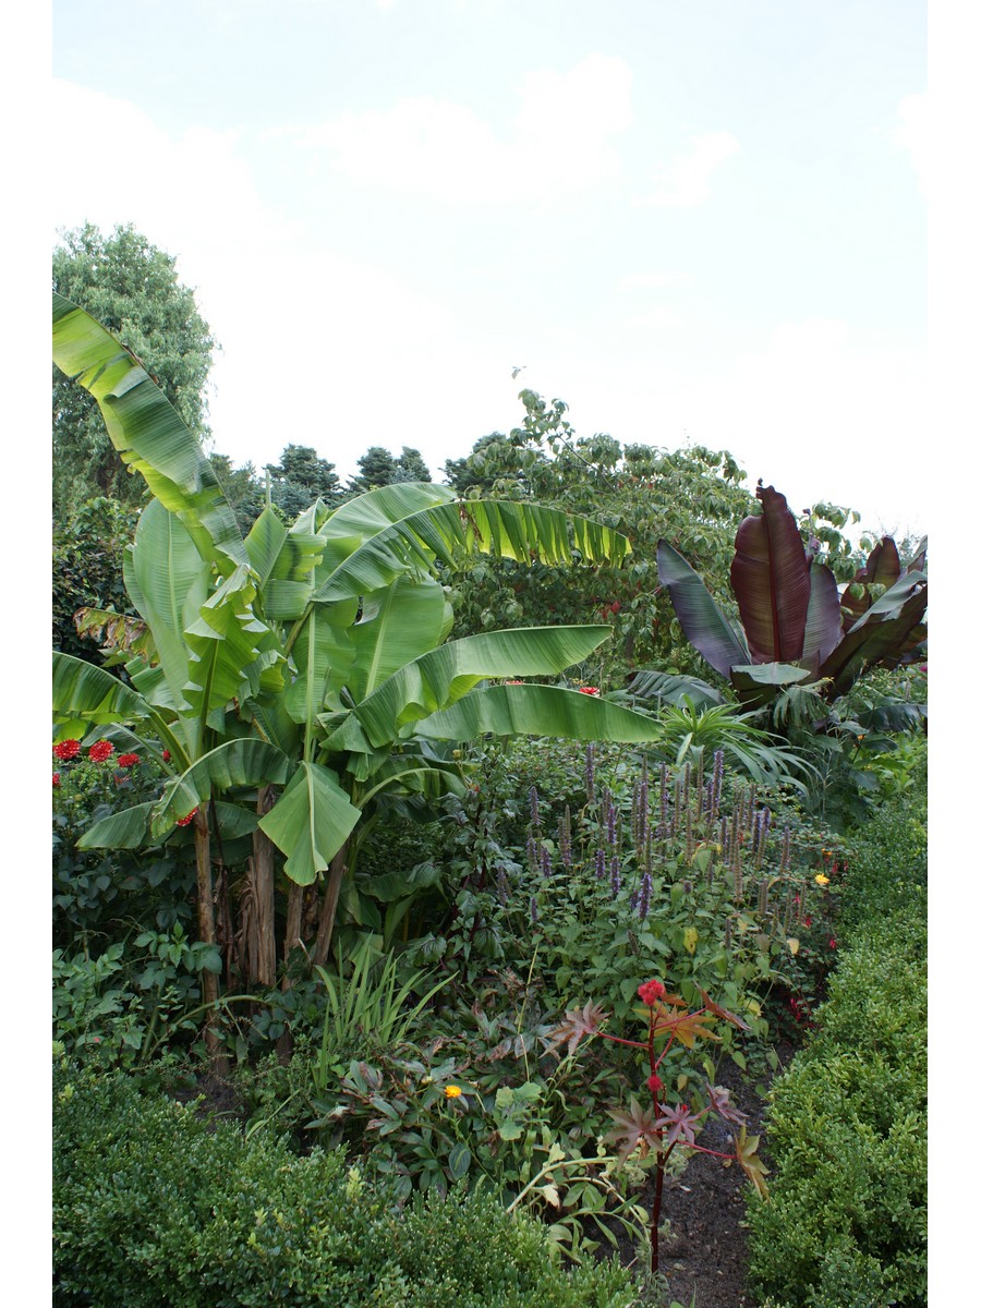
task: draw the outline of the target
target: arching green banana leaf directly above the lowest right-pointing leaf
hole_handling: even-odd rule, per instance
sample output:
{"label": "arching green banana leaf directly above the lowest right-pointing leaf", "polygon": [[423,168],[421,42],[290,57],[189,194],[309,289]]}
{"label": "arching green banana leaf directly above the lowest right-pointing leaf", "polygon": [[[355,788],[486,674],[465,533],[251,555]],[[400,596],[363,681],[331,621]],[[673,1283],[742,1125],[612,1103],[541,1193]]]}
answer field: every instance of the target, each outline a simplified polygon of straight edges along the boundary
{"label": "arching green banana leaf directly above the lowest right-pointing leaf", "polygon": [[449,708],[488,676],[555,675],[582,662],[611,634],[610,627],[522,627],[467,636],[407,663],[353,712],[369,740],[382,746],[400,727]]}

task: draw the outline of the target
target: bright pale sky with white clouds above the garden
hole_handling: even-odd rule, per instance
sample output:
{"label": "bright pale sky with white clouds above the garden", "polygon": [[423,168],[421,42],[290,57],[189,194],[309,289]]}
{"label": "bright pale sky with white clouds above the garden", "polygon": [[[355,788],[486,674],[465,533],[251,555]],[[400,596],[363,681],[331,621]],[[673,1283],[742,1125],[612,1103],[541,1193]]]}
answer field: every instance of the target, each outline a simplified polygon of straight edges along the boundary
{"label": "bright pale sky with white clouds above the garden", "polygon": [[[213,449],[438,477],[521,422],[927,530],[920,0],[55,0],[56,229],[132,222]],[[521,371],[517,377],[513,373]]]}

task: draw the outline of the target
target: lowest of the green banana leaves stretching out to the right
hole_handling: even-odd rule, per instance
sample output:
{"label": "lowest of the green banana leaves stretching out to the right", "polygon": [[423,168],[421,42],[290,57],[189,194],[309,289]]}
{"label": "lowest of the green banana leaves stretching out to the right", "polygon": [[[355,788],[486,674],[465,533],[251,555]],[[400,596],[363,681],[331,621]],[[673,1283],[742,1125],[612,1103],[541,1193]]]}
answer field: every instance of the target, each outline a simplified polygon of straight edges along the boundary
{"label": "lowest of the green banana leaves stretching out to the right", "polygon": [[654,718],[555,685],[492,685],[472,691],[449,709],[416,722],[413,730],[437,740],[475,740],[490,732],[640,744],[661,736]]}

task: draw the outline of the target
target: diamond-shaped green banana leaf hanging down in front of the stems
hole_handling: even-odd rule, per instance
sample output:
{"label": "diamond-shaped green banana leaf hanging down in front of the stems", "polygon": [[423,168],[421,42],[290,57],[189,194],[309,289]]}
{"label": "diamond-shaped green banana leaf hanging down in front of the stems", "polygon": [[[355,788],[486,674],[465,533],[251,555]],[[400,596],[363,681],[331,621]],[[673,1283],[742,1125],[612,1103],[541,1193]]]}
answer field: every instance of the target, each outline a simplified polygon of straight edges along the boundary
{"label": "diamond-shaped green banana leaf hanging down in front of the stems", "polygon": [[336,772],[301,763],[273,808],[259,821],[269,840],[286,855],[286,875],[310,886],[361,819],[341,790]]}

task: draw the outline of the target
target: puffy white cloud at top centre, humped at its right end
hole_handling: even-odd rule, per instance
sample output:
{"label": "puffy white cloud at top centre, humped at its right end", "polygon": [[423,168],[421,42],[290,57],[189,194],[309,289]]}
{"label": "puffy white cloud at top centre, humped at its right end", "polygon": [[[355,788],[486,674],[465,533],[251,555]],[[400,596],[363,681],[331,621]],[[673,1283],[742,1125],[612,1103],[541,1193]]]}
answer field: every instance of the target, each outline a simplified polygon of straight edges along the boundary
{"label": "puffy white cloud at top centre, humped at its right end", "polygon": [[344,114],[303,132],[298,144],[362,184],[445,203],[513,201],[544,177],[544,198],[587,190],[619,175],[611,137],[632,119],[630,69],[590,55],[568,73],[531,72],[509,140],[472,109],[430,95],[383,112]]}

